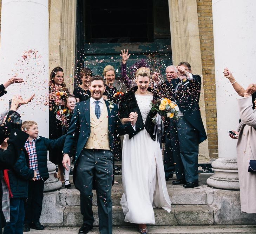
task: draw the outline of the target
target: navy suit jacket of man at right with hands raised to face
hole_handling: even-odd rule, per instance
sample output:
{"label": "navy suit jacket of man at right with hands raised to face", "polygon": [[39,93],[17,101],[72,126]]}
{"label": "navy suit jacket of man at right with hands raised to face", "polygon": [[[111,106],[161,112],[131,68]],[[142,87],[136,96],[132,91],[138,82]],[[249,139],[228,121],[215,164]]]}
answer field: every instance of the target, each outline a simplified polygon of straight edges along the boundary
{"label": "navy suit jacket of man at right with hands raised to face", "polygon": [[182,81],[178,86],[175,101],[184,118],[198,130],[198,140],[201,143],[207,139],[198,104],[201,92],[201,77],[199,75],[192,76],[192,80]]}

